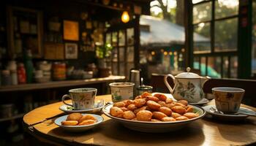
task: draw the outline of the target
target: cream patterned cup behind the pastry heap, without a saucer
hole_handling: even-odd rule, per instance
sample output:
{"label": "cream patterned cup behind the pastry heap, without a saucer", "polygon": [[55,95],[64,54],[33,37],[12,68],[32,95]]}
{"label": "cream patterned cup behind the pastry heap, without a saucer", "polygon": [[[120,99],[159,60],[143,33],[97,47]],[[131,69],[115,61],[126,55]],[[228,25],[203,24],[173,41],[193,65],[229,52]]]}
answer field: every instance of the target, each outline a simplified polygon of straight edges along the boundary
{"label": "cream patterned cup behind the pastry heap, without a saucer", "polygon": [[133,82],[112,82],[109,84],[112,101],[123,101],[126,99],[133,99]]}

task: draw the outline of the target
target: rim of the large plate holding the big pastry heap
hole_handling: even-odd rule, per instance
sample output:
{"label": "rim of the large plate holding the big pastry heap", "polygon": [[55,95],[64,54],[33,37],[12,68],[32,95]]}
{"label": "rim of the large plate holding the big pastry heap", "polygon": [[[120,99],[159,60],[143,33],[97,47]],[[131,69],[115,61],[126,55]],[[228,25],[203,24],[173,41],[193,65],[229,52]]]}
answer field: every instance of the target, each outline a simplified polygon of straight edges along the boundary
{"label": "rim of the large plate holding the big pastry heap", "polygon": [[204,110],[202,107],[199,107],[199,106],[196,106],[196,105],[192,105],[192,104],[189,104],[190,106],[192,107],[197,107],[198,109],[202,110],[203,114],[198,116],[197,118],[192,118],[192,119],[189,119],[189,120],[176,120],[176,121],[166,121],[166,122],[151,122],[151,121],[140,121],[140,120],[127,120],[127,119],[123,119],[123,118],[117,118],[117,117],[114,117],[112,115],[110,115],[108,112],[106,112],[106,108],[107,107],[110,107],[110,106],[113,106],[113,104],[108,104],[108,105],[105,105],[105,107],[103,107],[102,109],[102,112],[104,113],[104,115],[108,116],[109,118],[113,118],[114,120],[118,120],[118,121],[121,121],[121,122],[127,122],[127,123],[143,123],[143,124],[153,124],[153,125],[157,125],[157,124],[161,124],[161,125],[164,125],[164,124],[176,124],[176,123],[189,123],[189,122],[192,122],[194,120],[198,120],[200,118],[203,118],[205,115],[206,115],[206,110]]}

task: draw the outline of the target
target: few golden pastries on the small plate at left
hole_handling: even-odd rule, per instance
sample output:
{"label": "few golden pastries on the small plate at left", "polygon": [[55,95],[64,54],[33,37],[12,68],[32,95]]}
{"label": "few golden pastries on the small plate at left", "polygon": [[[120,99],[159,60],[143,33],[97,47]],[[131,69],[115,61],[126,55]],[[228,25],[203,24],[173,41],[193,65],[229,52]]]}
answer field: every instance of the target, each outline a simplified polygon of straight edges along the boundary
{"label": "few golden pastries on the small plate at left", "polygon": [[63,126],[86,126],[96,123],[97,119],[93,115],[82,115],[80,113],[72,113],[67,119],[61,122]]}

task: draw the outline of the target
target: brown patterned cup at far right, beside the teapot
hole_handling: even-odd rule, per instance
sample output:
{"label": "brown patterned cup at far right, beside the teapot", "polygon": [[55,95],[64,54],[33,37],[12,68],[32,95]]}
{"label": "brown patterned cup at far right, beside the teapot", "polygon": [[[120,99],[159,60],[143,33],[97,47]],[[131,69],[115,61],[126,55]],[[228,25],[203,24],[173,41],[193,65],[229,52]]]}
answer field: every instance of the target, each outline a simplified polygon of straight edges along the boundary
{"label": "brown patterned cup at far right, beside the teapot", "polygon": [[218,87],[211,89],[214,94],[216,108],[226,113],[238,112],[244,96],[244,89]]}

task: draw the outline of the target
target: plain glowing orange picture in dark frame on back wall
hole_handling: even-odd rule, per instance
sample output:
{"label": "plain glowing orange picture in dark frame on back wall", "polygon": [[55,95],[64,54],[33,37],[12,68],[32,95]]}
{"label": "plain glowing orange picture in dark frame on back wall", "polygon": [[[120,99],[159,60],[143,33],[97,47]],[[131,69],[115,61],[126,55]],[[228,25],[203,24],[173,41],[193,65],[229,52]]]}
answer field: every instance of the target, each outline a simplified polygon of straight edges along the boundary
{"label": "plain glowing orange picture in dark frame on back wall", "polygon": [[77,21],[64,20],[63,22],[64,39],[69,41],[79,40],[79,24]]}

